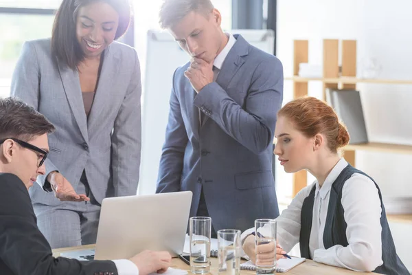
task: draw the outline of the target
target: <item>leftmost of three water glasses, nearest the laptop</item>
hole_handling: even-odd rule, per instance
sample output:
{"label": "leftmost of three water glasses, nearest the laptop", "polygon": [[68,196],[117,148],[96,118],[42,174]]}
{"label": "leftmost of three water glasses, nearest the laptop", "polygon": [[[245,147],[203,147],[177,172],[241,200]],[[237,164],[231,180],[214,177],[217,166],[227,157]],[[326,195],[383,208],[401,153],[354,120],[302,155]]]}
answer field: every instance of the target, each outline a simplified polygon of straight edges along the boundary
{"label": "leftmost of three water glasses, nearest the laptop", "polygon": [[208,273],[210,269],[210,217],[192,217],[190,228],[190,271]]}

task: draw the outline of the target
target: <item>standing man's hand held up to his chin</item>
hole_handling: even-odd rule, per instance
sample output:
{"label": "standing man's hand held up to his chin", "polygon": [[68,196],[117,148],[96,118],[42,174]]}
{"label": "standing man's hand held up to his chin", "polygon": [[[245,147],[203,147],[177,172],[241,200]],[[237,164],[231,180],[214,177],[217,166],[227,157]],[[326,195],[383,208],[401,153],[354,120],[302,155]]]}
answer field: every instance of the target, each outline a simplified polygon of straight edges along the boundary
{"label": "standing man's hand held up to his chin", "polygon": [[185,71],[185,76],[196,93],[199,93],[203,87],[213,82],[213,63],[194,57],[190,60],[190,67]]}

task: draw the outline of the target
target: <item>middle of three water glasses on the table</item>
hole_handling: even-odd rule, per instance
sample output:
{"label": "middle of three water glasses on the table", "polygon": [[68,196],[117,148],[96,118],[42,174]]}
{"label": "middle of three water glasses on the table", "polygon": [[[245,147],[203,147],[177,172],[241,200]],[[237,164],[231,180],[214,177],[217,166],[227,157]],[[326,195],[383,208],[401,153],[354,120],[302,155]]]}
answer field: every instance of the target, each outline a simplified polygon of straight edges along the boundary
{"label": "middle of three water glasses on the table", "polygon": [[240,274],[240,230],[218,230],[219,274]]}

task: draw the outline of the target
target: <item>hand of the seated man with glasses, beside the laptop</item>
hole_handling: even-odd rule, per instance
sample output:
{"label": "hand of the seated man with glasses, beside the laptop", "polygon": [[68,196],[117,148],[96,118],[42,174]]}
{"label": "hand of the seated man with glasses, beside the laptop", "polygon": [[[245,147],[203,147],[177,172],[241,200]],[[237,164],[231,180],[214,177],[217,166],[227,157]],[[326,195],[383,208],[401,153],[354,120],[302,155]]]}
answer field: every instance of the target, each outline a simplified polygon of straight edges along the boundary
{"label": "hand of the seated man with glasses, beside the laptop", "polygon": [[152,272],[164,273],[170,267],[172,257],[169,252],[144,251],[129,259],[137,268],[139,275],[148,275]]}

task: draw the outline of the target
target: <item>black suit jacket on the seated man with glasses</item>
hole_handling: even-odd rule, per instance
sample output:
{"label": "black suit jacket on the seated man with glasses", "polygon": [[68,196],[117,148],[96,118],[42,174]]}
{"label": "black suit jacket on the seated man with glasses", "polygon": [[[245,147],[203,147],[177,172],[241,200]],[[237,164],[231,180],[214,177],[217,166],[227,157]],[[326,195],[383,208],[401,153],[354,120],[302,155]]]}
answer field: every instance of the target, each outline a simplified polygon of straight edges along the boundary
{"label": "black suit jacket on the seated man with glasses", "polygon": [[0,274],[117,275],[117,270],[113,261],[54,258],[25,185],[16,175],[0,173]]}

